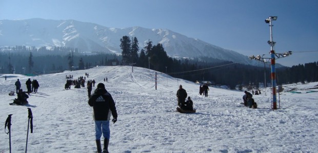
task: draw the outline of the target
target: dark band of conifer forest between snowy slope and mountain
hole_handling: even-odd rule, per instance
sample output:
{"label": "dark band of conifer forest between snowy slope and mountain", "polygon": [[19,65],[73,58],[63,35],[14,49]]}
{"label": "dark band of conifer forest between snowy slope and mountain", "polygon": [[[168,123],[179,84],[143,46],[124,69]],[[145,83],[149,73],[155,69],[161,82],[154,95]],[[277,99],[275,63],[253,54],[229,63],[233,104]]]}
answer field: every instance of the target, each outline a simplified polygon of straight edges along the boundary
{"label": "dark band of conifer forest between snowy slope and mountain", "polygon": [[[222,61],[211,57],[171,58],[167,56],[163,45],[146,43],[141,50],[138,40],[124,36],[121,41],[122,55],[91,53],[84,55],[76,48],[16,46],[2,49],[0,52],[0,73],[55,73],[64,70],[88,69],[97,65],[110,66],[134,65],[167,73],[175,78],[189,81],[212,81],[216,85],[227,85],[231,89],[238,86],[271,83],[270,66],[251,66]],[[140,51],[139,51],[140,50]],[[32,57],[30,57],[32,56]],[[30,60],[33,66],[30,67]],[[11,69],[10,69],[11,64]],[[13,70],[12,70],[13,69]],[[317,62],[276,68],[278,85],[298,82],[318,81]]]}

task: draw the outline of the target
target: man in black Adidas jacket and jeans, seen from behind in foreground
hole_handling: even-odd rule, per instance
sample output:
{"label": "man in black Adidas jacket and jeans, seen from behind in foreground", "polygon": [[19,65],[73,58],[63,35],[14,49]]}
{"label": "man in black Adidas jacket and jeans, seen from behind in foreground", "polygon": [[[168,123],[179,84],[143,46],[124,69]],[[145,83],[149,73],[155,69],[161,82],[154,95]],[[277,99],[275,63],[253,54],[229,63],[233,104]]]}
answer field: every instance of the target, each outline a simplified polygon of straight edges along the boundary
{"label": "man in black Adidas jacket and jeans, seen from behind in foreground", "polygon": [[[88,100],[89,106],[93,107],[95,120],[95,140],[97,152],[102,152],[101,136],[104,136],[104,152],[108,152],[108,144],[110,138],[109,120],[110,113],[113,116],[112,121],[117,121],[117,111],[115,102],[109,92],[105,89],[103,83],[97,85],[94,93]],[[110,111],[110,112],[109,112]]]}

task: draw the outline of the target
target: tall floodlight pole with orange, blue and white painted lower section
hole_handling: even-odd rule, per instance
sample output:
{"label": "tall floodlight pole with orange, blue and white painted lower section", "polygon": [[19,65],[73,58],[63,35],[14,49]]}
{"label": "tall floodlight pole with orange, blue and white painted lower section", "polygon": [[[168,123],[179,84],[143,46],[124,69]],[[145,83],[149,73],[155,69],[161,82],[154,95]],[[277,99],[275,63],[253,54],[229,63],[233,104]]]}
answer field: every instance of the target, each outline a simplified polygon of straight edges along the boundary
{"label": "tall floodlight pole with orange, blue and white painted lower section", "polygon": [[270,29],[270,55],[271,55],[271,81],[272,81],[272,96],[273,96],[273,110],[277,109],[277,98],[276,98],[276,79],[275,79],[275,51],[274,42],[272,35],[272,17],[269,17],[269,29]]}

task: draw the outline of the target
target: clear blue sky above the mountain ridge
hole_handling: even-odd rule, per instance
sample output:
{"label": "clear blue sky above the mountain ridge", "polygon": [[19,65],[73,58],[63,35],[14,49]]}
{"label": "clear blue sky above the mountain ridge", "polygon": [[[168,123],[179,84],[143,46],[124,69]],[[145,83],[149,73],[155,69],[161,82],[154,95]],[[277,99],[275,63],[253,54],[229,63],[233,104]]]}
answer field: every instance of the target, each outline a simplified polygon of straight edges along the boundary
{"label": "clear blue sky above the mountain ridge", "polygon": [[243,55],[269,57],[273,21],[277,59],[286,66],[318,61],[317,0],[1,0],[1,19],[74,19],[109,28],[169,29]]}

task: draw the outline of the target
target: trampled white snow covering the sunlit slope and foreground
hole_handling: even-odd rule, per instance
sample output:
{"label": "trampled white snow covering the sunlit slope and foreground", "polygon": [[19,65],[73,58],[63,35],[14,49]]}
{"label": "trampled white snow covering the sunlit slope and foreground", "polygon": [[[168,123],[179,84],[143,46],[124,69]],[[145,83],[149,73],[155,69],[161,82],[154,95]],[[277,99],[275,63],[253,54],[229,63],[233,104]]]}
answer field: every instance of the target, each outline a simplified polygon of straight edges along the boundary
{"label": "trampled white snow covering the sunlit slope and foreground", "polygon": [[[87,89],[65,90],[66,75],[76,79],[89,73],[105,82],[113,96],[118,120],[110,123],[110,152],[317,152],[318,96],[315,83],[284,85],[277,94],[280,109],[271,109],[270,88],[253,95],[258,109],[242,103],[243,91],[209,87],[209,96],[198,94],[200,85],[155,71],[130,66],[98,66],[87,70],[28,77],[0,74],[0,128],[12,115],[12,152],[25,152],[28,109],[33,112],[28,152],[94,152],[96,150],[92,108]],[[5,81],[4,75],[7,75]],[[19,79],[26,90],[28,78],[39,82],[27,106],[10,106]],[[182,84],[197,110],[181,114],[176,109],[176,91]],[[96,88],[93,87],[93,90]],[[287,92],[290,89],[296,92]],[[278,104],[278,103],[277,103]],[[9,135],[0,134],[0,152],[9,152]],[[103,140],[103,138],[102,138]]]}

